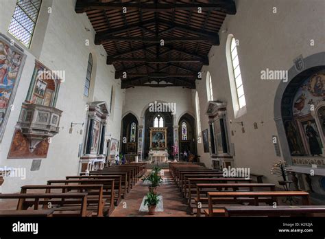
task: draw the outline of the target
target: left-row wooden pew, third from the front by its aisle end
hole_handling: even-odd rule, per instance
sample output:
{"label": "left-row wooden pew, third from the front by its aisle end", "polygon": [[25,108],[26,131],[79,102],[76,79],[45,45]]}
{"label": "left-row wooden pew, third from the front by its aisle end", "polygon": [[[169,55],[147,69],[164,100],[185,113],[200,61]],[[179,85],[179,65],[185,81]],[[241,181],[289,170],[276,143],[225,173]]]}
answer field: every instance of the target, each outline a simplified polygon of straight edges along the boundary
{"label": "left-row wooden pew, third from the front by its aisle end", "polygon": [[53,184],[101,184],[103,185],[103,194],[106,196],[106,201],[104,205],[104,210],[107,212],[107,215],[105,216],[110,216],[112,214],[113,210],[115,209],[114,205],[114,199],[115,199],[115,192],[114,192],[114,179],[65,179],[65,180],[49,180],[47,181],[48,185],[53,185]]}

